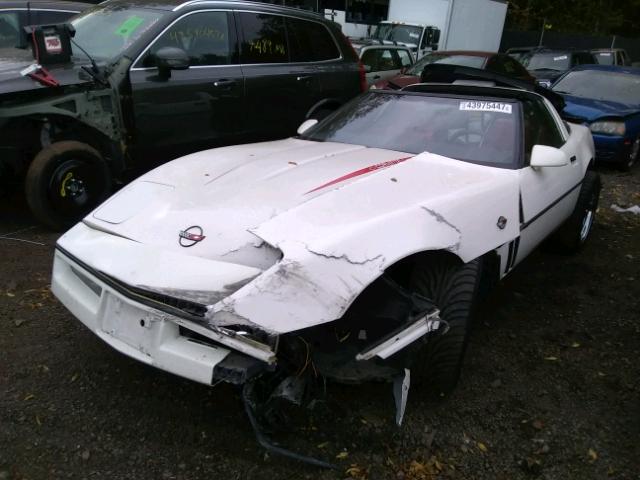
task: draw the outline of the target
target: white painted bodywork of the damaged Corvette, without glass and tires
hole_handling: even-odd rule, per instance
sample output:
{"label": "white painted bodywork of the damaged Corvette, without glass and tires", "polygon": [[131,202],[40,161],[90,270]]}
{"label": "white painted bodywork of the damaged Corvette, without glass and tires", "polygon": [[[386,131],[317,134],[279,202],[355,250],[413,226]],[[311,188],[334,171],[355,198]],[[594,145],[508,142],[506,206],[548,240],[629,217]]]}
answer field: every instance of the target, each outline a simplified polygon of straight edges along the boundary
{"label": "white painted bodywork of the damaged Corvette, without glass and tires", "polygon": [[52,290],[117,350],[192,380],[211,383],[232,351],[274,364],[277,344],[233,328],[277,338],[338,320],[420,252],[462,262],[496,252],[507,275],[571,214],[593,159],[587,128],[561,129],[574,160],[535,169],[296,138],[188,155],[64,234]]}

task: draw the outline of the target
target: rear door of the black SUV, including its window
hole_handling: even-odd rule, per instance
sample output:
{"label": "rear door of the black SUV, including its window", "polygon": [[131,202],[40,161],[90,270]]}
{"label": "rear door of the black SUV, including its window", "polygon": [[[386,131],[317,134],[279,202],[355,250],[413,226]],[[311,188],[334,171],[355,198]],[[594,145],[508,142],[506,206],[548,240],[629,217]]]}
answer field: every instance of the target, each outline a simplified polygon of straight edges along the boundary
{"label": "rear door of the black SUV, including its window", "polygon": [[236,18],[250,134],[255,140],[293,135],[320,89],[313,63],[290,63],[284,16],[236,12]]}

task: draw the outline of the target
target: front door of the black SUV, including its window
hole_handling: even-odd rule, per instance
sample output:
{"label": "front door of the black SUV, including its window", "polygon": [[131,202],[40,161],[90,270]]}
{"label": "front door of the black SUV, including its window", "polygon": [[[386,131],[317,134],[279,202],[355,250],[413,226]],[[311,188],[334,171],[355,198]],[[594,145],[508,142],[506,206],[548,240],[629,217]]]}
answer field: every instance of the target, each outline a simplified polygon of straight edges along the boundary
{"label": "front door of the black SUV, including its window", "polygon": [[[184,50],[189,68],[160,75],[155,54]],[[238,64],[233,14],[204,10],[185,14],[153,40],[130,71],[133,149],[148,161],[180,155],[241,138],[244,80]]]}

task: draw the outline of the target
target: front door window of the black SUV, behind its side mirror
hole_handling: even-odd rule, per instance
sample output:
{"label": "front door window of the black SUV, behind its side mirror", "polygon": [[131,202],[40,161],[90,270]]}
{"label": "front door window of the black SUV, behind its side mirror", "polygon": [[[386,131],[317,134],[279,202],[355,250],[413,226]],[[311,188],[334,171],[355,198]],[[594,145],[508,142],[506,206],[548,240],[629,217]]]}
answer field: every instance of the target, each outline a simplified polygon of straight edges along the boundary
{"label": "front door window of the black SUV, behind its side mirror", "polygon": [[151,45],[143,67],[155,67],[155,53],[163,47],[177,47],[189,55],[190,66],[237,63],[233,24],[227,12],[198,12],[174,23]]}

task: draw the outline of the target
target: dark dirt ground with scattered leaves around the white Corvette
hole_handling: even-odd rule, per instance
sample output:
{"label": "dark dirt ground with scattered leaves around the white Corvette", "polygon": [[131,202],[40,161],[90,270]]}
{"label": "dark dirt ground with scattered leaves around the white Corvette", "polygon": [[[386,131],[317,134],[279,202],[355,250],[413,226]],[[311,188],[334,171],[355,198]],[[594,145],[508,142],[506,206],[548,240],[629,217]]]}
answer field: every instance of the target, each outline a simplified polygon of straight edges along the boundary
{"label": "dark dirt ground with scattered leaves around the white Corvette", "polygon": [[640,478],[640,216],[610,208],[640,204],[640,171],[601,174],[587,248],[536,253],[492,294],[451,398],[412,390],[398,429],[389,385],[330,385],[329,413],[278,436],[337,472],[265,455],[236,389],[85,330],[49,292],[57,235],[3,201],[0,480]]}

